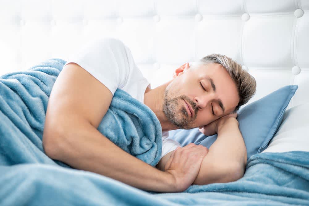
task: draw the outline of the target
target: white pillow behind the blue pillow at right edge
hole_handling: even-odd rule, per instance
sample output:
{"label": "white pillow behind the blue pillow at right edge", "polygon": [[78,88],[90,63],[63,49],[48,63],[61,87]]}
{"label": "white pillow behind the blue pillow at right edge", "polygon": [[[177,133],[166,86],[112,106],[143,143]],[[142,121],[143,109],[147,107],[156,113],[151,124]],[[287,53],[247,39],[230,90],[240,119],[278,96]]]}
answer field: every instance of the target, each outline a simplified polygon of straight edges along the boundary
{"label": "white pillow behind the blue pillow at right edge", "polygon": [[278,131],[263,152],[297,150],[309,152],[309,103],[286,110]]}

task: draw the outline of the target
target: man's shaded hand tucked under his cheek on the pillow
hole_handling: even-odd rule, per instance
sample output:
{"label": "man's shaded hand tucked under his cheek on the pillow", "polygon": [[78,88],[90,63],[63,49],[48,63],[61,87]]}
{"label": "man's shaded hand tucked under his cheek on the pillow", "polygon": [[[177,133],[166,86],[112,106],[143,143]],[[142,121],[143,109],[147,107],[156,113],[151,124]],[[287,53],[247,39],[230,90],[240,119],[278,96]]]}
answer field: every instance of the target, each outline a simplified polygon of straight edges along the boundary
{"label": "man's shaded hand tucked under his cheek on the pillow", "polygon": [[234,113],[234,114],[228,114],[228,115],[222,116],[219,119],[214,120],[213,122],[203,127],[199,127],[198,129],[200,130],[200,132],[202,132],[206,136],[214,135],[218,133],[218,128],[222,126],[229,118],[236,119],[237,115],[238,115],[237,113]]}

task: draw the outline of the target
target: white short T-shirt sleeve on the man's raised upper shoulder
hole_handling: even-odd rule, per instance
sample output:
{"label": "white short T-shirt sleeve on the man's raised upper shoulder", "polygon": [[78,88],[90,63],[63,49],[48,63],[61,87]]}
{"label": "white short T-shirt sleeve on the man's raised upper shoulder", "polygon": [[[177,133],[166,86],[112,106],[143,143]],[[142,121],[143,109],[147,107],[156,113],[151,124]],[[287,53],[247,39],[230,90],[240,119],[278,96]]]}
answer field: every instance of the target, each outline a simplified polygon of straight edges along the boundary
{"label": "white short T-shirt sleeve on the man's raised upper shoulder", "polygon": [[66,64],[78,64],[114,95],[116,89],[122,88],[128,81],[131,69],[127,55],[129,52],[129,48],[120,40],[103,38],[94,40],[69,55]]}

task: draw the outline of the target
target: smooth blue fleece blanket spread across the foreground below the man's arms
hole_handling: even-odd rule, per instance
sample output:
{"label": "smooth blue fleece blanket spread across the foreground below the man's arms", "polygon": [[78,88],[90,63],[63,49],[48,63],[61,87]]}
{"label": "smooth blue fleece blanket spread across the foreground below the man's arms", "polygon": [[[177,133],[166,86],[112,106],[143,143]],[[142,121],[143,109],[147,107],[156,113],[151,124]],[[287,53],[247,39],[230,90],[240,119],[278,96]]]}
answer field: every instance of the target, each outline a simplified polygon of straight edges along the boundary
{"label": "smooth blue fleece blanket spread across the foreground below the man's arms", "polygon": [[309,205],[309,152],[260,153],[244,177],[151,193],[117,180],[50,164],[0,166],[0,205]]}

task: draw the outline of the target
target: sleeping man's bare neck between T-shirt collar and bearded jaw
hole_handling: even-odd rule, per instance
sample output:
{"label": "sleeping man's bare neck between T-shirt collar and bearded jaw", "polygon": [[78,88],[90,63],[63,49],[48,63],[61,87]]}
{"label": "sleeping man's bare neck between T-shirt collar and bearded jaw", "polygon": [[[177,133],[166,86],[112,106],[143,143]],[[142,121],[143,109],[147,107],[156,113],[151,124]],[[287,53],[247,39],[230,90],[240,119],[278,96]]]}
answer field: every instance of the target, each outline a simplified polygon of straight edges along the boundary
{"label": "sleeping man's bare neck between T-shirt collar and bearded jaw", "polygon": [[162,131],[178,129],[174,124],[171,124],[167,120],[167,117],[163,112],[164,91],[169,83],[170,82],[167,82],[155,89],[147,89],[144,96],[144,104],[155,113],[161,123]]}

